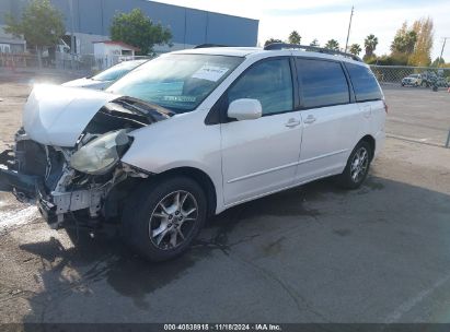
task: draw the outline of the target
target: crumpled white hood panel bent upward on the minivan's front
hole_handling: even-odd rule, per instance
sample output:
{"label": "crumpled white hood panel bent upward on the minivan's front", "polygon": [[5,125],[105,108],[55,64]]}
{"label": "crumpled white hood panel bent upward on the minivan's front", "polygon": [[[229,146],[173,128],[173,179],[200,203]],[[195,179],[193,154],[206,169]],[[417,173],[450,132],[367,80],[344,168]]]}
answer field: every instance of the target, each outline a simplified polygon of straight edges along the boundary
{"label": "crumpled white hood panel bent upward on the minivan's front", "polygon": [[23,127],[38,143],[74,146],[100,108],[118,97],[88,88],[35,85],[24,107]]}

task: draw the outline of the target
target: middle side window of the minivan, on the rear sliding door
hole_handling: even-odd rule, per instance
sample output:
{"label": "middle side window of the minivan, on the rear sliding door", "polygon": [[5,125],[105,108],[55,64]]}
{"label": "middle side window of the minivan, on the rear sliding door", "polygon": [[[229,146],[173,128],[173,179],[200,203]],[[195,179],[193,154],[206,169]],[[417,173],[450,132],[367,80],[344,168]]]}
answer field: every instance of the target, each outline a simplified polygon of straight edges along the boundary
{"label": "middle side window of the minivan, on the rear sliding door", "polygon": [[302,106],[323,107],[350,102],[347,79],[339,62],[297,58]]}

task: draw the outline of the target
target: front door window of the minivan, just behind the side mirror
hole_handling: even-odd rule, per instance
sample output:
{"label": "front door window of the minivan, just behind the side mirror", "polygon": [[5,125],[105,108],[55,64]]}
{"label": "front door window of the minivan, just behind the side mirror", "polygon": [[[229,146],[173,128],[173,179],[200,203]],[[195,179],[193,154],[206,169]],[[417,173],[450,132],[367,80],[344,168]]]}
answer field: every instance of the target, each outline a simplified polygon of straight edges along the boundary
{"label": "front door window of the minivan, just behind the side mirror", "polygon": [[263,115],[292,110],[293,90],[289,59],[263,61],[251,67],[228,91],[228,103],[257,99]]}

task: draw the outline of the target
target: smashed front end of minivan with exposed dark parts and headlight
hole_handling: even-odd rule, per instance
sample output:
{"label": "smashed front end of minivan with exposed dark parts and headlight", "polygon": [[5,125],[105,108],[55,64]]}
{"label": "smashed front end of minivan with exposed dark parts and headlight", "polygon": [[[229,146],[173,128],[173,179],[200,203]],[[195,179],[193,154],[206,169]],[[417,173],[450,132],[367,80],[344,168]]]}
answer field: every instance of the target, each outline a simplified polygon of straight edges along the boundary
{"label": "smashed front end of minivan with exposed dark parts and headlight", "polygon": [[15,146],[0,154],[0,190],[22,202],[36,202],[51,228],[73,218],[91,226],[115,220],[129,190],[149,176],[120,162],[132,143],[128,133],[169,117],[158,106],[116,97],[97,109],[74,146],[51,144],[43,139],[50,137],[49,128],[44,135],[36,126],[27,128],[24,119]]}

